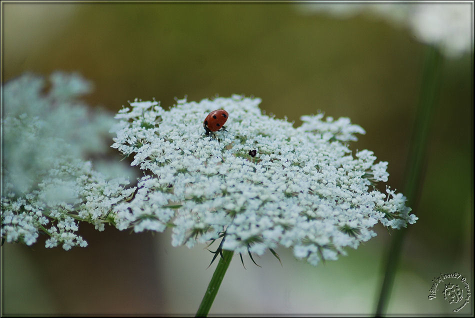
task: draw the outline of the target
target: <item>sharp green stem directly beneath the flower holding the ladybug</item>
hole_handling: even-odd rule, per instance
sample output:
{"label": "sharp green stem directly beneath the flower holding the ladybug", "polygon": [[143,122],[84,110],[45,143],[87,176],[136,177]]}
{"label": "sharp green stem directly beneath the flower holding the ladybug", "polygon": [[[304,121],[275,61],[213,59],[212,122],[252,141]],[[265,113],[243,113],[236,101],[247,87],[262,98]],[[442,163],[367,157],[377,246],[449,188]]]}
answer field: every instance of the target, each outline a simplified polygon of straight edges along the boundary
{"label": "sharp green stem directly beneath the flower holding the ladybug", "polygon": [[196,311],[197,317],[205,317],[208,314],[209,308],[211,308],[214,297],[216,297],[217,290],[221,285],[222,278],[226,273],[227,267],[229,267],[229,263],[231,262],[233,254],[234,252],[232,250],[222,250],[222,257],[219,259],[216,269],[214,269],[213,276],[209,281],[209,285],[206,289],[206,292],[204,293],[203,300],[201,300],[198,311]]}

